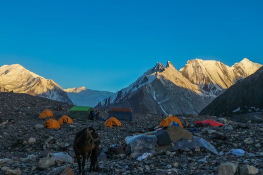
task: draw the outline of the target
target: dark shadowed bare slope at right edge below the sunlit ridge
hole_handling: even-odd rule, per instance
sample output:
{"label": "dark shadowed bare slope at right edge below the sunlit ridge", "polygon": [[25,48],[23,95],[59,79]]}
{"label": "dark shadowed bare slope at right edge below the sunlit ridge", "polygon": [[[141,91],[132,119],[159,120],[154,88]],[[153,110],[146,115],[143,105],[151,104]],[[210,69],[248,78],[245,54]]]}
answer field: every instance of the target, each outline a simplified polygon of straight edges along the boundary
{"label": "dark shadowed bare slope at right edge below the sunlit ridge", "polygon": [[200,114],[227,116],[261,111],[263,111],[263,67],[226,89]]}

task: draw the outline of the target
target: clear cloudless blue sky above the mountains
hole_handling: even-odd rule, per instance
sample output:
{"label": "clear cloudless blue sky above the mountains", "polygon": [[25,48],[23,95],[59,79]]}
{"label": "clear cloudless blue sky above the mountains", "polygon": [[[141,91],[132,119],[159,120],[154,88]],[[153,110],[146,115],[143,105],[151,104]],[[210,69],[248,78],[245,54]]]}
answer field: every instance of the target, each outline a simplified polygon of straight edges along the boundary
{"label": "clear cloudless blue sky above the mountains", "polygon": [[263,63],[262,0],[2,0],[0,63],[117,91],[160,61]]}

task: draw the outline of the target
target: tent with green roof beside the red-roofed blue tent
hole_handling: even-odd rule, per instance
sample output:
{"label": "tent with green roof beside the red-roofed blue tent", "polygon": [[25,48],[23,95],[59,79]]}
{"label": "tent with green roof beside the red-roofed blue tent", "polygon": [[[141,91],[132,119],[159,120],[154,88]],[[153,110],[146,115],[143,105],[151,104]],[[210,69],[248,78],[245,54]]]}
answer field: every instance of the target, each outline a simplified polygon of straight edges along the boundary
{"label": "tent with green roof beside the red-roofed blue tent", "polygon": [[90,119],[90,112],[92,111],[90,106],[73,106],[70,109],[70,117],[76,119]]}

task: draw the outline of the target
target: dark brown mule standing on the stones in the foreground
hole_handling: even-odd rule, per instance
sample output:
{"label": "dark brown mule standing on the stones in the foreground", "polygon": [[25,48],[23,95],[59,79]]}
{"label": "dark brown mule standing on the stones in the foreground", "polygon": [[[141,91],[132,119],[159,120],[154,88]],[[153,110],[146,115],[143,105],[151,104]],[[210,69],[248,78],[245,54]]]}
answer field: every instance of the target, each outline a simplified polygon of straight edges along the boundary
{"label": "dark brown mule standing on the stones in the foreground", "polygon": [[[85,159],[87,158],[87,161],[89,158],[91,159],[90,163],[90,169],[96,170],[95,165],[97,163],[97,157],[99,154],[99,145],[100,145],[100,137],[95,132],[95,129],[91,127],[86,127],[79,131],[74,139],[73,148],[78,160],[79,165],[79,174],[83,172],[84,174],[84,166],[85,166]],[[88,156],[87,156],[88,152]],[[81,170],[81,161],[80,161],[80,155],[82,155],[82,170]],[[99,167],[97,168],[99,169]]]}

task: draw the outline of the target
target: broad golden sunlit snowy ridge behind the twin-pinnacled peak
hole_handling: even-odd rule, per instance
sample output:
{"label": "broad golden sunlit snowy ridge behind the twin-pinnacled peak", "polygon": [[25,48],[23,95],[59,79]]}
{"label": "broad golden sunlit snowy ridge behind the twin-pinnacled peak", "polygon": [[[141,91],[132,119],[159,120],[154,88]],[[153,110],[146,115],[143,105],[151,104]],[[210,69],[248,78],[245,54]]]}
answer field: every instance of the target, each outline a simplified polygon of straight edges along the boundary
{"label": "broad golden sunlit snowy ridge behind the twin-pinnacled peak", "polygon": [[238,79],[254,73],[261,64],[254,63],[247,58],[235,63],[231,67],[215,60],[188,60],[180,72],[192,83],[198,84],[203,90],[218,95],[230,87]]}

